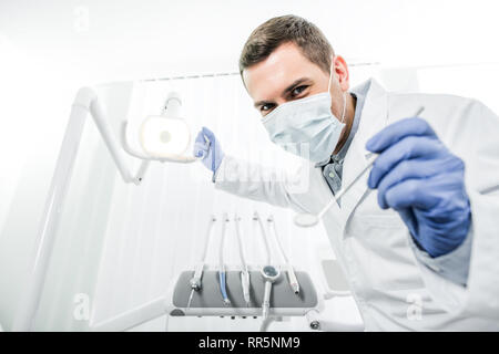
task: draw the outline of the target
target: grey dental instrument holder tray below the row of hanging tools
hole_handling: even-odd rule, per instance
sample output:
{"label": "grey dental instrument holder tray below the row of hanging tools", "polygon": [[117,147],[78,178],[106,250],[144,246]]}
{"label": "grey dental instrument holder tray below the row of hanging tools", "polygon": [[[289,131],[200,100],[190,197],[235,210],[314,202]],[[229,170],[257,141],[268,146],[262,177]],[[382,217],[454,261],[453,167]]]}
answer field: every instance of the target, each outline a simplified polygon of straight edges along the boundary
{"label": "grey dental instrument holder tray below the row of hanging tools", "polygon": [[[299,294],[293,292],[287,282],[287,269],[281,271],[281,277],[274,284],[271,294],[271,316],[303,316],[318,304],[317,292],[306,272],[296,271],[301,285]],[[246,305],[241,287],[241,269],[227,269],[226,289],[231,304],[225,304],[220,292],[218,272],[204,270],[203,288],[196,291],[187,306],[191,293],[191,279],[194,271],[183,271],[175,283],[172,294],[172,316],[261,316],[264,298],[265,280],[256,267],[249,269],[251,303]]]}

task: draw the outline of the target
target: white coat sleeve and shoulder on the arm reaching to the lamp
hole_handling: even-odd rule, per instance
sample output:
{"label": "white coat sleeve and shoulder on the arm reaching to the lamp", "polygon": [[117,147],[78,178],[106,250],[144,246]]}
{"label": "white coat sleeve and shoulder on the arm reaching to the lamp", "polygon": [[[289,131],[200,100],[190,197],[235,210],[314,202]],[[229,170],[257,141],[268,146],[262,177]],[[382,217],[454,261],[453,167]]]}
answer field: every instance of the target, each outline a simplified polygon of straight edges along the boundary
{"label": "white coat sleeve and shoulder on the arm reaching to the lamp", "polygon": [[296,212],[318,212],[332,198],[319,169],[305,160],[289,173],[226,155],[214,181],[217,189]]}

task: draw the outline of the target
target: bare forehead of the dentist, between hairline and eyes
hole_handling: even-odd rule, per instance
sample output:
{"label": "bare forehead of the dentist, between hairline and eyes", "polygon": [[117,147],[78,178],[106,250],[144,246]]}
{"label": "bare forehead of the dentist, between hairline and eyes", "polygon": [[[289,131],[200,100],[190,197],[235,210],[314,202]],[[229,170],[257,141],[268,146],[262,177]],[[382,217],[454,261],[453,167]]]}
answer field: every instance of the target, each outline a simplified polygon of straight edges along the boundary
{"label": "bare forehead of the dentist, between hairline and eyes", "polygon": [[244,70],[243,79],[253,101],[281,96],[282,92],[301,77],[318,79],[325,73],[312,63],[294,43],[285,43],[264,61]]}

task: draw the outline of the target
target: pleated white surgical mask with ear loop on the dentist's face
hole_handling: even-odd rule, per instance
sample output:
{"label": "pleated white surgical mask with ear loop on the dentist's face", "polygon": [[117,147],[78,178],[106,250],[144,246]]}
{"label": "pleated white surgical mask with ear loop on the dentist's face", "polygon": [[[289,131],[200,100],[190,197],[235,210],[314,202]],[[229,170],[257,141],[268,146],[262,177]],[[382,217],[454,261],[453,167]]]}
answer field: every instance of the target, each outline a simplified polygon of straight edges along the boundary
{"label": "pleated white surgical mask with ear loop on the dentist's face", "polygon": [[346,93],[343,95],[342,118],[338,119],[330,111],[332,77],[333,67],[327,92],[286,102],[264,117],[262,123],[272,142],[315,163],[333,154],[345,127]]}

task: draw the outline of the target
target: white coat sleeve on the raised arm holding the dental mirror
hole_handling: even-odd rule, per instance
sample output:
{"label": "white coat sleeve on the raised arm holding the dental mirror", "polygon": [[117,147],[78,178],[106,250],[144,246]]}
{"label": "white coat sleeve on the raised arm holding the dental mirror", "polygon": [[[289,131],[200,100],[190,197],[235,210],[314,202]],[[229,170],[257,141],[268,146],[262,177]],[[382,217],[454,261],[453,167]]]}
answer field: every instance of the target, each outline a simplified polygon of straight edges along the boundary
{"label": "white coat sleeve on the raised arm holding the dental mirror", "polygon": [[465,184],[472,219],[466,287],[422,262],[418,266],[428,291],[444,309],[499,320],[499,117],[479,102],[465,113],[470,123],[460,122],[459,138],[468,148]]}

